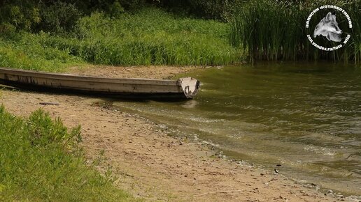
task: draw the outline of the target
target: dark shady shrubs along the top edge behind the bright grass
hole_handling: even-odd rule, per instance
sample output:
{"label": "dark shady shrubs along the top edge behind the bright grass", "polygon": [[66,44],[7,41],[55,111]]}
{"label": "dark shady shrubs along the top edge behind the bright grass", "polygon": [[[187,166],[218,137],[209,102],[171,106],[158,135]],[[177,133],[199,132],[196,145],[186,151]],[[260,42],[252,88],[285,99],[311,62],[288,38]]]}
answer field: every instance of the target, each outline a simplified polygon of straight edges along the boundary
{"label": "dark shady shrubs along the top edge behind the bright grass", "polygon": [[[79,17],[105,12],[118,17],[125,10],[134,12],[150,5],[206,19],[229,20],[241,0],[14,0],[0,1],[0,24],[32,32],[64,33],[70,31]],[[1,29],[0,29],[1,31]]]}

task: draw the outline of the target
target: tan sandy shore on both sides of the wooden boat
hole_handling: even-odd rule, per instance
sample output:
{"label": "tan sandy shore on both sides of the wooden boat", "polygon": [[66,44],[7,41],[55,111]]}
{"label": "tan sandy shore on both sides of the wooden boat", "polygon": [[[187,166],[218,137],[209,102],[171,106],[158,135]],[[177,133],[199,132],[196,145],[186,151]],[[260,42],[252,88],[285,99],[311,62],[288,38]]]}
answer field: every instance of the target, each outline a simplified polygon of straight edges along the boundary
{"label": "tan sandy shore on both sides of the wooden boat", "polygon": [[[192,68],[73,68],[82,75],[169,78]],[[59,105],[41,105],[55,102]],[[169,137],[164,128],[111,106],[99,98],[28,91],[1,91],[0,103],[13,114],[27,116],[43,108],[69,127],[82,126],[90,161],[105,162],[119,178],[115,185],[146,201],[339,201],[306,188],[274,171],[229,162],[201,143]]]}

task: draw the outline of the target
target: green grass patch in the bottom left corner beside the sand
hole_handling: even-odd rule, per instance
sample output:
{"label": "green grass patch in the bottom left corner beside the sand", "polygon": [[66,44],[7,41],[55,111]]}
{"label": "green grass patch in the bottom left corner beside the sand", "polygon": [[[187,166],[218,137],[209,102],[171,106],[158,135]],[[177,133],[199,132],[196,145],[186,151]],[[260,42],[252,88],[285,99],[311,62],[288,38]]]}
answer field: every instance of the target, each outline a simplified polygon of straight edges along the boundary
{"label": "green grass patch in the bottom left corner beside the sand", "polygon": [[79,141],[80,127],[41,109],[18,118],[1,106],[0,201],[134,201],[86,164]]}

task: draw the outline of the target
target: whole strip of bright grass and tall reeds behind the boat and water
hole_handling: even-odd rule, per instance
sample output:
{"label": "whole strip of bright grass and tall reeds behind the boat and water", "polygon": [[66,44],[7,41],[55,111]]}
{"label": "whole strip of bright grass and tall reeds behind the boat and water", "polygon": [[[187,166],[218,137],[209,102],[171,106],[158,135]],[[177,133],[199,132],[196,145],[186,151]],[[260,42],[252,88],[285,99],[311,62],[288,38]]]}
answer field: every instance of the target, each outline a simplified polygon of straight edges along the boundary
{"label": "whole strip of bright grass and tall reeds behind the boat and water", "polygon": [[[232,65],[247,56],[250,61],[361,61],[360,0],[254,0],[237,4],[240,6],[232,9],[235,13],[229,15],[229,23],[180,17],[144,6],[133,13],[93,11],[71,21],[69,28],[59,28],[61,32],[31,33],[2,25],[0,66],[64,71],[86,63]],[[344,8],[353,22],[351,40],[333,52],[313,47],[304,28],[309,13],[325,4]],[[338,22],[345,20],[342,14],[337,16]],[[311,27],[323,17],[314,15]],[[324,44],[321,37],[314,40],[325,47],[334,45]]]}

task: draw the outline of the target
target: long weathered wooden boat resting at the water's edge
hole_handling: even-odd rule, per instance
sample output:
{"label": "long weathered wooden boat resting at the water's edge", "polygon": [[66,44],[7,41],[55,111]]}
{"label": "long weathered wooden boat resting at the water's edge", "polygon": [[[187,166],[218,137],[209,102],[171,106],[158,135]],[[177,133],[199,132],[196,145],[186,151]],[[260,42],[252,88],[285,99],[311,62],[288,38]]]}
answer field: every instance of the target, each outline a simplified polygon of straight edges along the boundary
{"label": "long weathered wooden boat resting at the water's edge", "polygon": [[199,89],[199,81],[191,77],[178,80],[117,79],[10,68],[0,68],[0,84],[36,91],[90,93],[117,98],[190,99]]}

